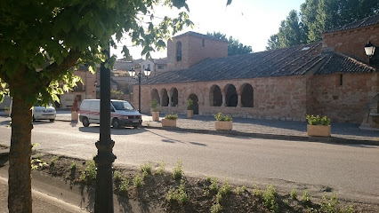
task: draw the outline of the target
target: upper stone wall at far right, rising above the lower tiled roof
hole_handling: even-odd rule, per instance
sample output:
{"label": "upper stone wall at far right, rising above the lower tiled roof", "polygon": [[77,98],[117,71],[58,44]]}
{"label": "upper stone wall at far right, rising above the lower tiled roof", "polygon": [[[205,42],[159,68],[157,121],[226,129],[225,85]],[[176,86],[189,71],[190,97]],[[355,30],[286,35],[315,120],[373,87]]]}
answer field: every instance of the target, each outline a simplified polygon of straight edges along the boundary
{"label": "upper stone wall at far right, rising above the lower tiled roof", "polygon": [[368,62],[364,47],[367,41],[379,46],[379,25],[366,28],[353,28],[322,35],[322,44],[325,48],[352,56]]}

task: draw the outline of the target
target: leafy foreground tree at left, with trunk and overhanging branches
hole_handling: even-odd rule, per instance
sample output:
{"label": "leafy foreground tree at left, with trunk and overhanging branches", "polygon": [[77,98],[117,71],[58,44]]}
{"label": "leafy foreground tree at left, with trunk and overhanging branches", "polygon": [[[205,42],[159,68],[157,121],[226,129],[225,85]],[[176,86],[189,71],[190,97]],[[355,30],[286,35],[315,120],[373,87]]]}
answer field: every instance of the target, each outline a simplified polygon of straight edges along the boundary
{"label": "leafy foreground tree at left, with trunk and overhanging branches", "polygon": [[92,72],[101,61],[110,67],[114,58],[106,60],[105,52],[122,36],[142,45],[141,54],[149,58],[149,51],[165,48],[165,40],[192,25],[186,12],[155,19],[157,5],[188,9],[186,0],[0,1],[0,99],[13,99],[9,212],[32,211],[30,108],[74,87],[78,65]]}

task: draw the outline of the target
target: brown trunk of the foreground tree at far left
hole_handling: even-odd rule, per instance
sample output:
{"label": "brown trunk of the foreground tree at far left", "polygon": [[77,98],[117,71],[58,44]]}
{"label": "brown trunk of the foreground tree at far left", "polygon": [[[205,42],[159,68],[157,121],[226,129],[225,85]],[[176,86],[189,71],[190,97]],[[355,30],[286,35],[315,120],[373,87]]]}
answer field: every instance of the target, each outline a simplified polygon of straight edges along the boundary
{"label": "brown trunk of the foreground tree at far left", "polygon": [[13,98],[8,180],[10,213],[32,212],[30,156],[33,123],[30,107],[24,99]]}

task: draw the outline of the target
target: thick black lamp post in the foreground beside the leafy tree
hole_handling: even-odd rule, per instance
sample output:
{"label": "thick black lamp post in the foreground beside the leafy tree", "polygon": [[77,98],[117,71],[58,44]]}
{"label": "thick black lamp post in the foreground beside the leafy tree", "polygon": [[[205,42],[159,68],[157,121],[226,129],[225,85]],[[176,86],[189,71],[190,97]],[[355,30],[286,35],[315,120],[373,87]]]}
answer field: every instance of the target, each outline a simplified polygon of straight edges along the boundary
{"label": "thick black lamp post in the foreground beside the leafy tree", "polygon": [[[105,51],[109,58],[109,50]],[[107,59],[108,61],[108,59]],[[110,70],[101,63],[100,91],[100,140],[96,142],[98,153],[96,162],[95,213],[113,213],[113,175],[112,162],[116,155],[112,153],[115,142],[110,138]]]}

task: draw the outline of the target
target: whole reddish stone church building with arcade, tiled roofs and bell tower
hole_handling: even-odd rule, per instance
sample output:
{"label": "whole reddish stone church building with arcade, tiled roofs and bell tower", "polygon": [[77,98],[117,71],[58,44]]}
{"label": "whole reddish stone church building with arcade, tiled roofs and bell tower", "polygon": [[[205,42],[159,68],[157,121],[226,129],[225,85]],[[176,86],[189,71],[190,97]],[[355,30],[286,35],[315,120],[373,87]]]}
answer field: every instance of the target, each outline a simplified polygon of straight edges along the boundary
{"label": "whole reddish stone church building with arcade, tiled roofs and bell tower", "polygon": [[327,31],[322,43],[230,57],[221,40],[175,36],[167,43],[171,71],[142,83],[141,111],[157,99],[160,112],[184,114],[192,99],[194,114],[286,121],[319,114],[360,123],[378,94],[378,67],[364,53],[368,40],[379,45],[378,32],[376,15]]}

